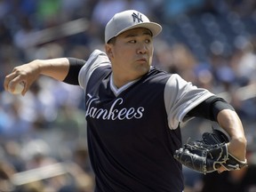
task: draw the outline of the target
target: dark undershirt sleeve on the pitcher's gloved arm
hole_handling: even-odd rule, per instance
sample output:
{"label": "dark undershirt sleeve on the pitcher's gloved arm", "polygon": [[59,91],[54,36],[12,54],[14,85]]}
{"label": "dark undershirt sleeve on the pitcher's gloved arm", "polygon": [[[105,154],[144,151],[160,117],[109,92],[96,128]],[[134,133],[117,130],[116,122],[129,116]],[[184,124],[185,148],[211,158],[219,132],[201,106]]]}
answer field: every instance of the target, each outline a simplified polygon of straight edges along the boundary
{"label": "dark undershirt sleeve on the pitcher's gloved arm", "polygon": [[217,116],[223,109],[235,111],[235,109],[228,104],[226,100],[217,96],[212,96],[207,100],[204,100],[202,103],[196,106],[196,108],[190,110],[187,115],[202,117],[217,122]]}

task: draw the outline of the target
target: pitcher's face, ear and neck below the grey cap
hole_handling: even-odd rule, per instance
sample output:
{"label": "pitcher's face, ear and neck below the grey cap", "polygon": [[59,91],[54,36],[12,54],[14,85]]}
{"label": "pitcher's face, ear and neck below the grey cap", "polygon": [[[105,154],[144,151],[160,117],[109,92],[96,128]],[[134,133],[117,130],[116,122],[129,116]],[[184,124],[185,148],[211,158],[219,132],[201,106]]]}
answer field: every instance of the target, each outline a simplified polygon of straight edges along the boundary
{"label": "pitcher's face, ear and neck below the grey cap", "polygon": [[147,28],[127,30],[116,36],[114,44],[106,44],[106,52],[119,88],[148,73],[154,52],[152,33]]}

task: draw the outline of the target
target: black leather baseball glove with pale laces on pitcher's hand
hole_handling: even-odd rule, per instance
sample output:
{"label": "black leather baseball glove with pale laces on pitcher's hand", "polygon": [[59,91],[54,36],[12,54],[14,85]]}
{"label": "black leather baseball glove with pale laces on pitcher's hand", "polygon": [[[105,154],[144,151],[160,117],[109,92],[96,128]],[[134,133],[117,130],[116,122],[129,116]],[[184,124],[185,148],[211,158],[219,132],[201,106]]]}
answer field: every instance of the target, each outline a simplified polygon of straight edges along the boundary
{"label": "black leather baseball glove with pale laces on pitcher's hand", "polygon": [[218,171],[223,166],[227,171],[239,170],[247,165],[228,153],[228,137],[224,132],[213,129],[204,132],[203,140],[188,142],[175,151],[174,158],[188,168],[202,172]]}

